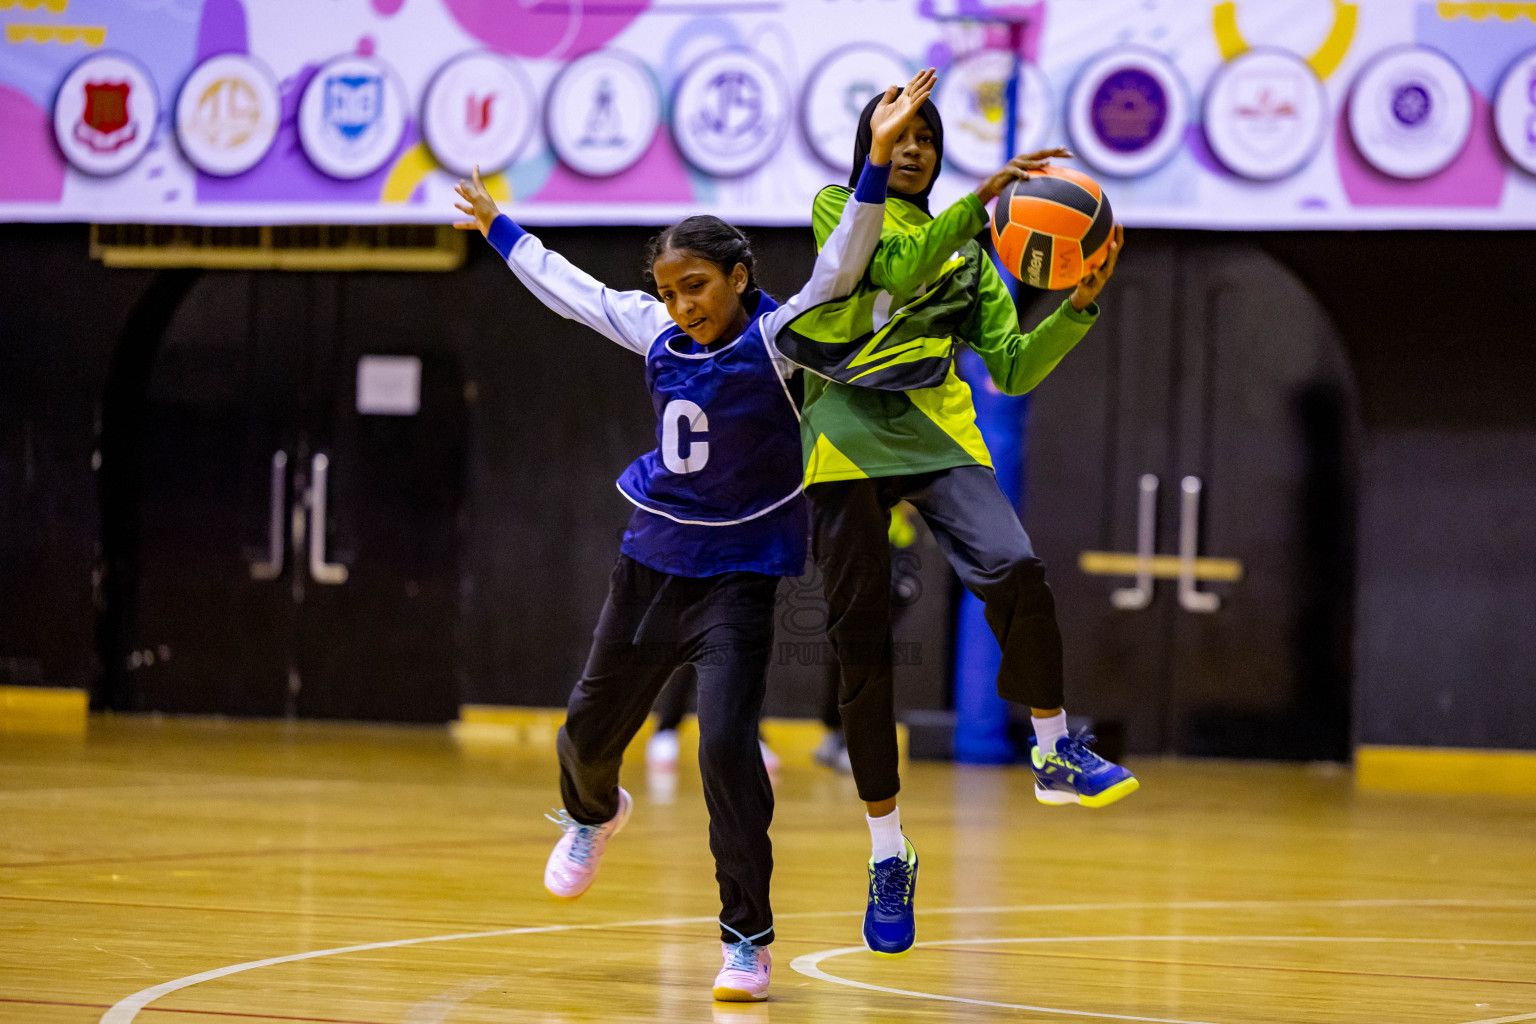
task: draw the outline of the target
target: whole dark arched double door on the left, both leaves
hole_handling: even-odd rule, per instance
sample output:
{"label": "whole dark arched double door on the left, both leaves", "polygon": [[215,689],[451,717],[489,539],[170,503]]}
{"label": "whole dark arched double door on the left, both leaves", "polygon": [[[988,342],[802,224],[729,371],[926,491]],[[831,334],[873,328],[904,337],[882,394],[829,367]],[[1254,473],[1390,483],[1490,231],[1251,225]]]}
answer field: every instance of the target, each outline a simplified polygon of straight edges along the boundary
{"label": "whole dark arched double door on the left, both leaves", "polygon": [[[456,714],[462,375],[412,278],[356,279],[206,275],[170,318],[111,513],[138,522],[131,708]],[[413,411],[359,411],[366,355],[419,361]]]}

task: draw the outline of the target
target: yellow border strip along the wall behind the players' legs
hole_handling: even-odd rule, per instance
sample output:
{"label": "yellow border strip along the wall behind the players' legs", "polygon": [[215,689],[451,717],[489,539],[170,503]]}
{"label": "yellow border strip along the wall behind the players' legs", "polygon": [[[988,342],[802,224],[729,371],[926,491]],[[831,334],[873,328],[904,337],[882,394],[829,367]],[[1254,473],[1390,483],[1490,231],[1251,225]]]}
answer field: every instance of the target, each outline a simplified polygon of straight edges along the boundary
{"label": "yellow border strip along the wall behind the players' legs", "polygon": [[[449,731],[461,746],[493,751],[507,748],[544,748],[554,752],[554,734],[565,722],[565,708],[513,708],[505,705],[464,705],[459,720],[449,723]],[[647,718],[634,740],[625,749],[625,760],[645,758],[645,742],[651,738],[656,720]],[[809,763],[811,752],[822,742],[826,728],[814,718],[763,718],[763,738],[780,761]],[[906,761],[908,731],[897,723],[895,742],[902,761]],[[677,729],[677,746],[690,761],[699,749],[699,723],[693,715],[682,720]]]}

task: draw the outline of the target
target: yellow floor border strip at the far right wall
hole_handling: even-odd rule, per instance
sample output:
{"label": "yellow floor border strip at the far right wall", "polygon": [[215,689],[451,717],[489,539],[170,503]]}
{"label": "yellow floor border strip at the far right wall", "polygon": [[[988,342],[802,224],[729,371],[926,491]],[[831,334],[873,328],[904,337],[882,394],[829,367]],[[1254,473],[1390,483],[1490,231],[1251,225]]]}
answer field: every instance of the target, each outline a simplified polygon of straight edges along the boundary
{"label": "yellow floor border strip at the far right wall", "polygon": [[1536,751],[1442,746],[1361,746],[1355,786],[1395,792],[1536,797]]}

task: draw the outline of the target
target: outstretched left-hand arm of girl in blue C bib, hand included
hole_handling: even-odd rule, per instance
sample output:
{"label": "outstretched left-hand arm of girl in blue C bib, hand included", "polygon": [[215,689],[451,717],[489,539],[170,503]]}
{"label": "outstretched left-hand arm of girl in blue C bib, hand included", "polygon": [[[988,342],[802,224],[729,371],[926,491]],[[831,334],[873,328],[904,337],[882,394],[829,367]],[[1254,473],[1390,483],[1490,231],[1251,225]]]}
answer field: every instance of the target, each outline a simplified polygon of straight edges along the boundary
{"label": "outstretched left-hand arm of girl in blue C bib, hand included", "polygon": [[459,181],[458,193],[464,201],[455,206],[473,220],[458,221],[455,227],[485,235],[485,241],[535,298],[561,316],[585,324],[642,356],[651,341],[671,325],[667,307],[653,295],[610,289],[522,230],[496,207],[478,167],[473,181]]}

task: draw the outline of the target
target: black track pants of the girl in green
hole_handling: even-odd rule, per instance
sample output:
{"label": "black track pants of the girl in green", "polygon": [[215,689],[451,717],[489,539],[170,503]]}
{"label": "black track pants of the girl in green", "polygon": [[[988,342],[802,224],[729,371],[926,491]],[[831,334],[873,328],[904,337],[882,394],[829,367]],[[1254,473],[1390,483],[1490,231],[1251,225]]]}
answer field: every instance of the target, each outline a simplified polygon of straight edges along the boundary
{"label": "black track pants of the girl in green", "polygon": [[1044,565],[992,470],[957,467],[912,476],[813,484],[816,565],[826,586],[826,636],[842,663],[839,711],[859,798],[902,789],[895,757],[891,652],[891,507],[922,514],[960,582],[986,606],[1003,648],[997,692],[1032,708],[1061,706],[1061,629]]}

